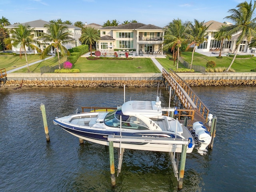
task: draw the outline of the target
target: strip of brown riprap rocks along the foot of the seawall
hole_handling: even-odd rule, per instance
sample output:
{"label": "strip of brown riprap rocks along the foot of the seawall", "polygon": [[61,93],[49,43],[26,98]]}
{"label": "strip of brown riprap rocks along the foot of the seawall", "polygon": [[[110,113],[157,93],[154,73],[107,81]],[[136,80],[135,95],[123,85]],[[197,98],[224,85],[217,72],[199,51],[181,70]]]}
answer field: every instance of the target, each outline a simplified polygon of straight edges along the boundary
{"label": "strip of brown riprap rocks along the foot of the seawall", "polygon": [[[193,86],[256,86],[256,80],[185,80],[185,82]],[[159,80],[9,80],[6,84],[1,84],[1,89],[12,87],[14,89],[27,87],[164,87],[164,81]]]}

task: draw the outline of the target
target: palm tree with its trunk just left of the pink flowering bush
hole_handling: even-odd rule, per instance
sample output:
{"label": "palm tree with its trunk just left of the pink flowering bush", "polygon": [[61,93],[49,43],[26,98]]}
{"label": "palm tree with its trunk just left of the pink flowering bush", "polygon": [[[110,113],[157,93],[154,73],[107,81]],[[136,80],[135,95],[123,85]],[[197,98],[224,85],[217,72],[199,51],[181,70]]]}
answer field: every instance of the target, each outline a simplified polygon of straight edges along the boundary
{"label": "palm tree with its trunk just left of the pink flowering bush", "polygon": [[60,69],[60,54],[64,55],[67,53],[69,55],[69,51],[62,44],[74,43],[72,39],[73,34],[68,31],[68,27],[64,24],[58,24],[57,22],[49,23],[44,25],[47,28],[47,33],[42,33],[42,36],[38,37],[38,40],[43,40],[43,42],[50,42],[51,46],[47,46],[42,52],[41,58],[44,59],[51,51],[51,48],[56,48]]}

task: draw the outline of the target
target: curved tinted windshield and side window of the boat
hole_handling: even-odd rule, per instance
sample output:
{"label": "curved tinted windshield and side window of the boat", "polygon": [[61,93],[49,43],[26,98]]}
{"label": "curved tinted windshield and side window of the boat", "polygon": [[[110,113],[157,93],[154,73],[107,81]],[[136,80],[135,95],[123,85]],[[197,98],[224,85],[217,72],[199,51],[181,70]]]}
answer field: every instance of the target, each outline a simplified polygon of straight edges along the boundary
{"label": "curved tinted windshield and side window of the boat", "polygon": [[104,123],[110,127],[120,127],[120,116],[122,116],[122,128],[148,130],[148,126],[135,116],[127,116],[122,113],[122,110],[114,110],[108,113]]}

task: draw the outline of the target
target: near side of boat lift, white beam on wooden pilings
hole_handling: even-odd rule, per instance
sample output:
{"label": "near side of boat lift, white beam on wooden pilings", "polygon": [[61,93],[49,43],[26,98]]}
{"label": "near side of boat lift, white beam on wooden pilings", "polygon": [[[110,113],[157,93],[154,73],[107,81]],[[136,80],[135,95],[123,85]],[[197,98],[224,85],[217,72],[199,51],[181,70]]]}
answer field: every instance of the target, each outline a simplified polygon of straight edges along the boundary
{"label": "near side of boat lift, white beam on wooden pilings", "polygon": [[131,137],[131,136],[122,136],[122,135],[111,135],[108,136],[109,142],[109,155],[110,155],[110,176],[112,186],[116,185],[115,171],[114,171],[114,146],[113,142],[120,142],[120,148],[118,151],[118,174],[121,172],[122,160],[124,154],[124,148],[122,148],[122,142],[143,142],[143,143],[155,143],[155,144],[171,144],[171,145],[182,145],[181,159],[180,159],[180,172],[178,172],[178,163],[175,160],[175,152],[169,152],[172,168],[174,171],[174,176],[178,181],[178,188],[182,188],[185,162],[186,162],[186,150],[187,146],[190,143],[189,139],[180,139],[180,138],[142,138],[142,137]]}

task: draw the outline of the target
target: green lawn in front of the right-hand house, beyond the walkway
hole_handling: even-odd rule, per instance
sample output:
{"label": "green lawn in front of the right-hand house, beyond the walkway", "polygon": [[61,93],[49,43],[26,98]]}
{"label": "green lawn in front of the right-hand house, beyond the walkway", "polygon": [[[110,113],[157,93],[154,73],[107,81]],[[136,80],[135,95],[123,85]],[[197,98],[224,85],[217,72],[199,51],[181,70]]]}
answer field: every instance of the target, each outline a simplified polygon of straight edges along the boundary
{"label": "green lawn in front of the right-hand house, beyond the walkway", "polygon": [[[216,55],[218,56],[218,55]],[[228,67],[232,62],[232,57],[222,57],[222,59],[216,58],[216,56],[208,57],[199,53],[194,53],[193,65],[200,65],[206,67],[206,63],[210,60],[216,63],[217,67]],[[181,57],[187,62],[191,63],[192,52],[182,52]],[[239,59],[236,58],[231,68],[236,72],[250,72],[251,69],[256,68],[256,57]]]}

